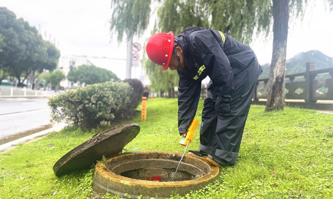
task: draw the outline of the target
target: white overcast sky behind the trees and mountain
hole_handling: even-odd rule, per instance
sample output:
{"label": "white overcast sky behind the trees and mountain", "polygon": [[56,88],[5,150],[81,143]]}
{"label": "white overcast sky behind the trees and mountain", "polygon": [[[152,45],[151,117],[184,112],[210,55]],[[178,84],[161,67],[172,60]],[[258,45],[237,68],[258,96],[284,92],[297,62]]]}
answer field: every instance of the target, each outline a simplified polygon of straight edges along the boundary
{"label": "white overcast sky behind the trees and mountain", "polygon": [[[319,50],[333,57],[333,12],[326,11],[322,2],[323,0],[316,0],[316,7],[311,6],[312,9],[306,11],[304,19],[296,20],[294,26],[289,28],[287,59],[309,50]],[[47,39],[51,34],[51,41],[56,40],[62,56],[87,55],[126,59],[126,44],[119,45],[116,38],[111,40],[108,23],[111,17],[109,0],[0,0],[0,6],[7,7],[18,18],[22,17],[37,29],[40,26],[43,37],[45,31]],[[137,38],[134,42],[143,46],[149,33],[150,30],[146,31],[142,38]],[[272,38],[266,42],[258,38],[250,46],[260,64],[270,63]],[[96,66],[108,68],[124,79],[125,61],[90,60]],[[137,76],[140,71],[139,69],[136,72]]]}

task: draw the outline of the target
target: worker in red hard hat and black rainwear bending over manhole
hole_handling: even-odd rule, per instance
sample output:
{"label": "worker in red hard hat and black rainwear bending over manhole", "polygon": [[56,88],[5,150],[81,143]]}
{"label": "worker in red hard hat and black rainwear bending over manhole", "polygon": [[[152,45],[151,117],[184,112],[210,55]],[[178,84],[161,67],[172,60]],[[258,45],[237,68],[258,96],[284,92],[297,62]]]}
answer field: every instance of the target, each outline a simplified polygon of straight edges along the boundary
{"label": "worker in red hard hat and black rainwear bending over manhole", "polygon": [[199,151],[189,150],[218,167],[234,165],[261,66],[245,44],[217,30],[186,28],[153,35],[147,55],[163,70],[177,70],[178,129],[186,129],[195,116],[201,81],[210,82],[203,103]]}

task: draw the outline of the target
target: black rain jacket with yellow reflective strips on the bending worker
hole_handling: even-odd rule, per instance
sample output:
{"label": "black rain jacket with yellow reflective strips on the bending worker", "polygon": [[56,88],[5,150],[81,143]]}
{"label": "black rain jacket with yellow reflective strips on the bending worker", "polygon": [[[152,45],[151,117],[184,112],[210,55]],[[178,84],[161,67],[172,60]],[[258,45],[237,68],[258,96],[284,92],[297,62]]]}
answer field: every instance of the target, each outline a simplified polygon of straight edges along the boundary
{"label": "black rain jacket with yellow reflective strips on the bending worker", "polygon": [[200,98],[201,81],[207,76],[207,97],[219,112],[230,111],[230,101],[244,94],[261,74],[261,66],[245,44],[217,30],[187,28],[175,39],[183,51],[185,67],[178,71],[178,129],[185,133]]}

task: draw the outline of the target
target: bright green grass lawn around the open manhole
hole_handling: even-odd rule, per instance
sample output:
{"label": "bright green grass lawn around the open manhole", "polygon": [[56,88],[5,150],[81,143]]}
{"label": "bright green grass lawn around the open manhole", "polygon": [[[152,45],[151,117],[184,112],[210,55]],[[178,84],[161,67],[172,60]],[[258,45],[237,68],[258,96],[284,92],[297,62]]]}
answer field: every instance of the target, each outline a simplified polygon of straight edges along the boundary
{"label": "bright green grass lawn around the open manhole", "polygon": [[[196,118],[201,121],[203,100],[198,107]],[[177,143],[177,99],[149,99],[147,121],[140,119],[138,115],[128,121],[137,122],[141,131],[126,149],[183,152]],[[106,128],[83,132],[68,127],[0,153],[0,198],[91,196],[92,170],[58,178],[52,167]],[[198,145],[199,126],[188,149]],[[264,106],[252,105],[237,164],[221,169],[218,181],[185,198],[333,198],[332,158],[333,115],[290,107],[265,113]]]}

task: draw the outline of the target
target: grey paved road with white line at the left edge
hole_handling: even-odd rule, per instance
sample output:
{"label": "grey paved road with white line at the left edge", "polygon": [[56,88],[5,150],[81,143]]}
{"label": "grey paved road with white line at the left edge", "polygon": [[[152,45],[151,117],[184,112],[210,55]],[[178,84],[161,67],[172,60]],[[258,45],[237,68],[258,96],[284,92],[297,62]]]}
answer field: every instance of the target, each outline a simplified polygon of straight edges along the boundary
{"label": "grey paved road with white line at the left edge", "polygon": [[0,100],[0,144],[50,127],[50,114],[44,98]]}

